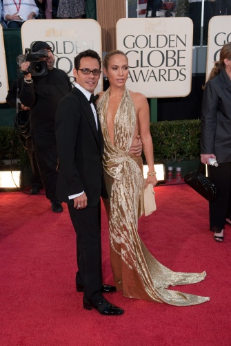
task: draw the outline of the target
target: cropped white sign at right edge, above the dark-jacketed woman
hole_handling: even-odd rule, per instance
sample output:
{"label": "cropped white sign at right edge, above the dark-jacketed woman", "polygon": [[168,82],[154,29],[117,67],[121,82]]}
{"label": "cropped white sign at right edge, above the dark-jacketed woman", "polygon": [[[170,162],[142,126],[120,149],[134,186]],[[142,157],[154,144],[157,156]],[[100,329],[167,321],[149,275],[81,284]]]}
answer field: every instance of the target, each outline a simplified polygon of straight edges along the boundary
{"label": "cropped white sign at right edge, above the dark-jacketed woman", "polygon": [[210,19],[208,26],[208,52],[206,80],[214,67],[214,62],[220,59],[220,51],[224,44],[231,42],[231,16],[217,16]]}

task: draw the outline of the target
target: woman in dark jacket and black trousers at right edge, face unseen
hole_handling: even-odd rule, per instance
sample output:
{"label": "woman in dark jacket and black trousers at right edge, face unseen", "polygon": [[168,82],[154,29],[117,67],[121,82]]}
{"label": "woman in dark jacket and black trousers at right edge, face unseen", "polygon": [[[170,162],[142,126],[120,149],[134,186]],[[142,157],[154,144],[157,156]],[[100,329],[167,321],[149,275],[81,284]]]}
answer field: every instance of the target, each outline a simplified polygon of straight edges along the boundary
{"label": "woman in dark jacket and black trousers at right edge, face unseen", "polygon": [[[217,167],[209,165],[216,158]],[[201,162],[218,190],[209,203],[210,230],[214,240],[223,242],[225,223],[231,224],[231,43],[221,48],[214,63],[202,101]]]}

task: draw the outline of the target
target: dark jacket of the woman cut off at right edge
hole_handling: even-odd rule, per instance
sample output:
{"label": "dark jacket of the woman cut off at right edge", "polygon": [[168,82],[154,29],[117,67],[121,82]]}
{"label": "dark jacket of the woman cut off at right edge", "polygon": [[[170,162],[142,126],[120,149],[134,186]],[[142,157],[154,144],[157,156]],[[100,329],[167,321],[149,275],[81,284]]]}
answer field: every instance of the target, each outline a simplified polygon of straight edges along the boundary
{"label": "dark jacket of the woman cut off at right edge", "polygon": [[225,70],[206,83],[201,112],[201,154],[231,161],[231,81]]}

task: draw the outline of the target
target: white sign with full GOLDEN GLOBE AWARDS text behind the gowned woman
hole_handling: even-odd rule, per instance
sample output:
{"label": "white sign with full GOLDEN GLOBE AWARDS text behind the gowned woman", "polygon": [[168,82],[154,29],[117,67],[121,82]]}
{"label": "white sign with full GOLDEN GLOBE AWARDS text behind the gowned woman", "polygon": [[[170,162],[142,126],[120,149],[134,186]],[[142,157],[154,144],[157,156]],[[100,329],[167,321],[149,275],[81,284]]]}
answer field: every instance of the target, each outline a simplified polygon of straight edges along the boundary
{"label": "white sign with full GOLDEN GLOBE AWARDS text behind the gowned woman", "polygon": [[147,98],[187,96],[192,80],[189,18],[120,19],[117,48],[128,56],[128,89]]}

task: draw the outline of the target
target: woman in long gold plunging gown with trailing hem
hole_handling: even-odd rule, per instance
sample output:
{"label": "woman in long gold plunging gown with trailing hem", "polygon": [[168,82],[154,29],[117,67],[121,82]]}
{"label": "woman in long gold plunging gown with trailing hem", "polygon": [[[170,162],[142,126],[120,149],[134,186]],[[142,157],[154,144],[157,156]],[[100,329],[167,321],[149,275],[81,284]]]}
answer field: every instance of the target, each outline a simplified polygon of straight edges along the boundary
{"label": "woman in long gold plunging gown with trailing hem", "polygon": [[126,88],[128,58],[123,52],[110,51],[103,60],[103,72],[110,87],[99,93],[97,109],[104,138],[103,168],[109,197],[103,203],[114,283],[129,298],[179,306],[206,302],[208,297],[168,290],[170,285],[200,282],[205,272],[174,273],[151,255],[138,235],[138,219],[143,214],[142,159],[130,153],[137,135],[149,168],[145,187],[157,184],[148,102],[141,93]]}

